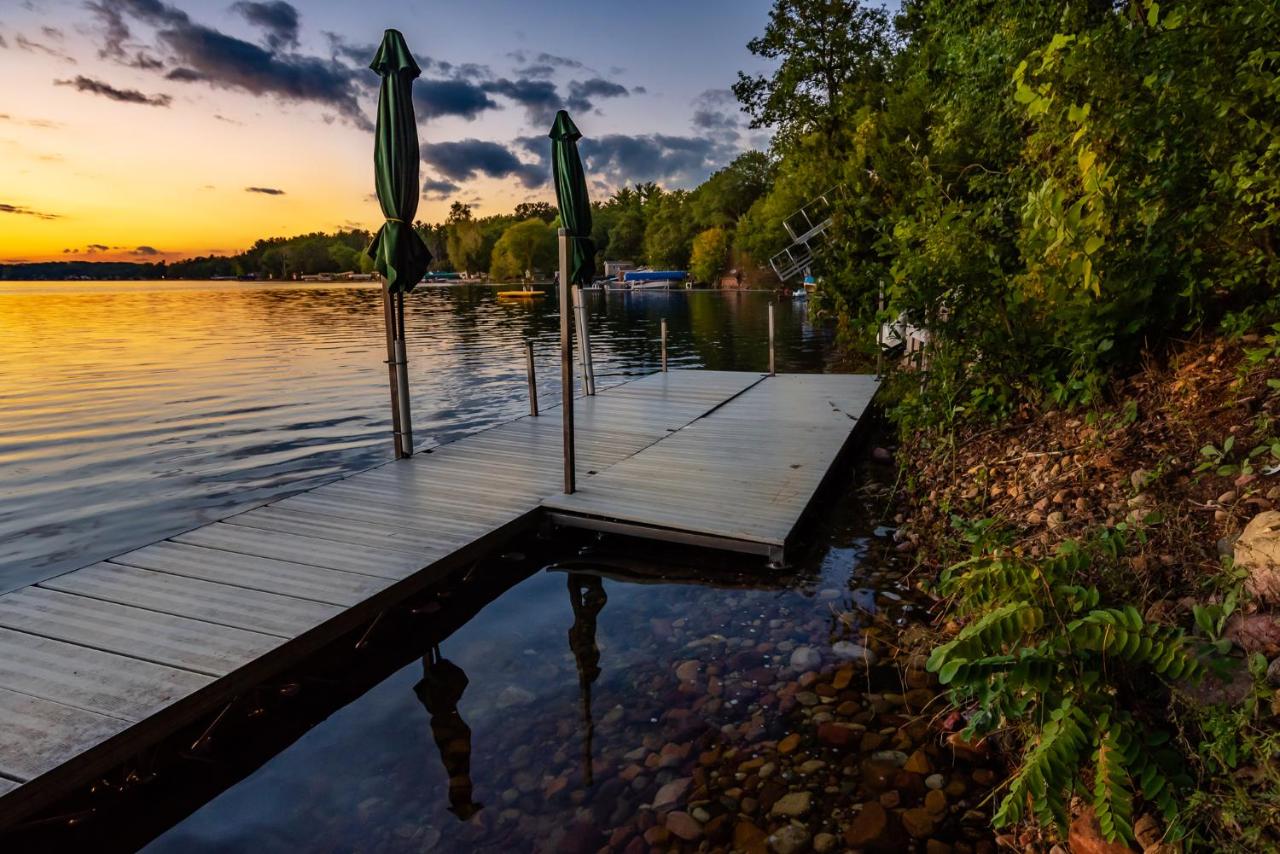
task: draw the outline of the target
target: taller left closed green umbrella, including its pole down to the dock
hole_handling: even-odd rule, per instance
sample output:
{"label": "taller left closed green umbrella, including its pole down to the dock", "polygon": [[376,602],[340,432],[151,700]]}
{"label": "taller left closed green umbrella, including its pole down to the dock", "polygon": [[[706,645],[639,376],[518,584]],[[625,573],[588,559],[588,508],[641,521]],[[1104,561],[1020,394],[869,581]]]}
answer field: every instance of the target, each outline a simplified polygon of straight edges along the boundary
{"label": "taller left closed green umbrella, including its pole down to the dock", "polygon": [[367,254],[383,277],[396,456],[407,457],[413,453],[413,429],[408,406],[404,294],[413,289],[431,264],[426,243],[413,229],[421,155],[411,88],[422,70],[397,29],[383,33],[383,44],[369,67],[383,78],[378,91],[378,128],[374,132],[374,184],[385,222],[369,245]]}

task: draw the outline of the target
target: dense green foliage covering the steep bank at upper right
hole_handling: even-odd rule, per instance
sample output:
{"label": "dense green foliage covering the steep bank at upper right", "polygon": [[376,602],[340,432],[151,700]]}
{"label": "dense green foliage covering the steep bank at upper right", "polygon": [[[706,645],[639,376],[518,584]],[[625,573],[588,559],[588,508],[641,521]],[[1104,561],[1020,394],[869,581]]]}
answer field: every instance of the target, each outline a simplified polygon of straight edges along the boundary
{"label": "dense green foliage covering the steep bank at upper right", "polygon": [[[778,70],[737,93],[782,129],[777,179],[737,245],[767,259],[783,216],[846,188],[815,305],[870,338],[883,286],[929,329],[904,429],[1091,405],[1143,347],[1275,320],[1280,6],[905,0],[892,29],[872,12],[774,4],[753,49]],[[826,56],[833,40],[852,46]]]}

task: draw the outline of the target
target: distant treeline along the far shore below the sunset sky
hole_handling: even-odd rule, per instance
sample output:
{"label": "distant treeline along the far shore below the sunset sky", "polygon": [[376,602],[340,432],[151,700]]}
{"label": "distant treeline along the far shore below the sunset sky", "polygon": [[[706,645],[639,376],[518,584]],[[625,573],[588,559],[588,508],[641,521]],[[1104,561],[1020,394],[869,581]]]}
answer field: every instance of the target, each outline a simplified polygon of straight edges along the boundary
{"label": "distant treeline along the far shore below the sunset sky", "polygon": [[[773,184],[773,164],[748,151],[710,175],[696,189],[663,189],[646,183],[622,187],[593,202],[591,237],[596,260],[605,259],[689,269],[700,282],[713,280],[735,259],[750,266],[755,232],[777,228],[772,218],[753,216],[753,206]],[[559,211],[547,202],[522,202],[511,214],[476,218],[468,205],[453,202],[443,223],[413,223],[431,251],[434,271],[484,274],[492,279],[547,275],[556,264]],[[741,220],[741,222],[740,222]],[[165,262],[44,261],[0,265],[0,279],[210,279],[246,277],[294,279],[319,273],[370,273],[364,229],[332,234],[260,239],[238,255],[210,255]]]}

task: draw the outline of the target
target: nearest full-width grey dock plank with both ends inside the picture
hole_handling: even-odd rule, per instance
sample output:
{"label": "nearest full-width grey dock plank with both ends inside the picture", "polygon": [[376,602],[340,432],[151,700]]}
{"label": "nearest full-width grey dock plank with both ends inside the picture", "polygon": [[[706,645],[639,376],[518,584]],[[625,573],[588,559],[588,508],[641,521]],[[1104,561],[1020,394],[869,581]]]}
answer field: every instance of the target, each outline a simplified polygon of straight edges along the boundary
{"label": "nearest full-width grey dock plank with both ends inside the picture", "polygon": [[120,563],[95,563],[40,586],[276,638],[297,638],[342,613],[340,606]]}

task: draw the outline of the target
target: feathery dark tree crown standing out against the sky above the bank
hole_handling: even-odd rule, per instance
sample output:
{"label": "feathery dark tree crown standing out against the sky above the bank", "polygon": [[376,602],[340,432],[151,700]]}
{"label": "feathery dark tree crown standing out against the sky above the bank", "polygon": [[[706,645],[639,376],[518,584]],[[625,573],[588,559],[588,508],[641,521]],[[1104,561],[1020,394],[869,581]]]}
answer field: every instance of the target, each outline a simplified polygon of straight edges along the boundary
{"label": "feathery dark tree crown standing out against the sky above the bank", "polygon": [[781,61],[769,77],[739,72],[733,95],[754,128],[776,127],[783,140],[822,131],[833,140],[854,92],[887,78],[891,33],[888,13],[859,0],[777,0],[764,35],[746,46]]}

